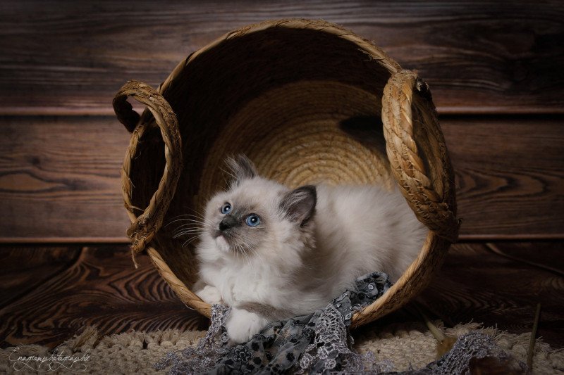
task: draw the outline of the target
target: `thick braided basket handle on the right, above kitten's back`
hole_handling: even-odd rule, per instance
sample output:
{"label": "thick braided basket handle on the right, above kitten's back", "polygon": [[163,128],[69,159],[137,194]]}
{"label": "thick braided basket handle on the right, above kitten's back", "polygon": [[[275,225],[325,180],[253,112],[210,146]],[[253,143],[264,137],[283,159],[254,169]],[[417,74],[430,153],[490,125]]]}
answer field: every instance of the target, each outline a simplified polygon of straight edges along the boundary
{"label": "thick braided basket handle on the right, above kitten's back", "polygon": [[[434,144],[430,148],[419,150],[415,142],[412,104],[418,115],[423,116],[418,125],[425,128],[429,142]],[[460,227],[456,218],[454,172],[429,87],[415,72],[400,70],[388,80],[382,96],[382,122],[391,169],[407,203],[420,222],[454,243]],[[423,152],[426,154],[422,155]],[[436,171],[439,178],[429,179],[422,156],[440,163],[442,170]]]}

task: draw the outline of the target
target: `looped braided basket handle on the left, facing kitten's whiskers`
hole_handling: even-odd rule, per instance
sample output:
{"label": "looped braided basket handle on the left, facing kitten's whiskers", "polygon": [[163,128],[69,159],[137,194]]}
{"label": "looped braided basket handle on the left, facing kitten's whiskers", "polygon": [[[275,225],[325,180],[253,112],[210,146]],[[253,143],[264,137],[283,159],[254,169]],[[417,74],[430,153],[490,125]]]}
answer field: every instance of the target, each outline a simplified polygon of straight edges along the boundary
{"label": "looped braided basket handle on the left, facing kitten's whiskers", "polygon": [[[135,215],[135,212],[139,212],[141,209],[136,208],[131,201],[133,184],[130,179],[130,171],[132,160],[137,154],[137,146],[140,144],[140,139],[142,139],[150,125],[148,121],[143,120],[133,110],[133,107],[127,101],[128,96],[132,96],[140,103],[145,104],[152,113],[157,126],[161,130],[166,160],[159,187],[153,194],[147,208],[142,210],[142,214],[138,216]],[[125,153],[125,160],[123,161],[121,181],[125,208],[128,210],[132,223],[127,234],[131,239],[131,255],[135,267],[137,267],[135,255],[145,249],[160,229],[164,215],[168,210],[168,205],[170,205],[176,191],[176,184],[178,183],[183,164],[180,132],[178,130],[178,120],[171,106],[158,91],[148,84],[135,80],[126,82],[114,97],[113,106],[118,120],[132,132],[128,151]],[[145,113],[143,117],[145,117]]]}

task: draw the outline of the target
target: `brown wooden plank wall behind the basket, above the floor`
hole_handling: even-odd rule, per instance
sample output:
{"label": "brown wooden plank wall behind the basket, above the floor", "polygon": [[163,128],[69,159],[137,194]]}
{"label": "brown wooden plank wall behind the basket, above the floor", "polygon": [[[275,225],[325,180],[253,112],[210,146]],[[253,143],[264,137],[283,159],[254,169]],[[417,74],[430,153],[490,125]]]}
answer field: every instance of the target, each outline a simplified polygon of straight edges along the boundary
{"label": "brown wooden plank wall behind the basket, above the floor", "polygon": [[324,18],[417,69],[441,113],[461,239],[564,239],[561,1],[0,3],[0,241],[124,242],[111,99],[237,27]]}

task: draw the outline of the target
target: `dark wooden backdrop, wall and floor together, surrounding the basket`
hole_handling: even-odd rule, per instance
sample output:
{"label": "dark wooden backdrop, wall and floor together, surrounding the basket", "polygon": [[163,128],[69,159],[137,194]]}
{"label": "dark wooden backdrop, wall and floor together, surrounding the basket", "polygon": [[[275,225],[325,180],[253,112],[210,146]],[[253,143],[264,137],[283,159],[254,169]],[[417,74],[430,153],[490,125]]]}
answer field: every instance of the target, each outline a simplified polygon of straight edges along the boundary
{"label": "dark wooden backdrop, wall and floor together, surrounding the basket", "polygon": [[541,301],[541,335],[564,346],[563,2],[303,0],[0,2],[4,345],[205,326],[130,263],[111,100],[230,30],[293,17],[350,28],[431,87],[463,222],[427,312],[522,332]]}

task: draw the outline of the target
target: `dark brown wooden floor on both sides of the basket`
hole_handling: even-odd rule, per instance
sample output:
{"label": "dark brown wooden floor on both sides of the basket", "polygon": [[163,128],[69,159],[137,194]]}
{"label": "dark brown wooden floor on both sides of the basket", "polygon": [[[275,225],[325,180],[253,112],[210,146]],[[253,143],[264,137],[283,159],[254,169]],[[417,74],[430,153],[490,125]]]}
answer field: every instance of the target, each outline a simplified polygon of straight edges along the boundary
{"label": "dark brown wooden floor on both sides of the basket", "polygon": [[[540,302],[539,336],[564,348],[562,250],[560,242],[459,243],[417,301],[449,326],[474,321],[513,333],[531,331]],[[551,262],[530,264],[538,252]],[[0,260],[1,348],[55,346],[87,325],[102,334],[207,328],[207,320],[180,303],[147,257],[140,257],[139,269],[133,267],[125,245],[2,246]],[[410,311],[394,312],[372,328],[417,319]]]}

